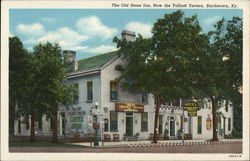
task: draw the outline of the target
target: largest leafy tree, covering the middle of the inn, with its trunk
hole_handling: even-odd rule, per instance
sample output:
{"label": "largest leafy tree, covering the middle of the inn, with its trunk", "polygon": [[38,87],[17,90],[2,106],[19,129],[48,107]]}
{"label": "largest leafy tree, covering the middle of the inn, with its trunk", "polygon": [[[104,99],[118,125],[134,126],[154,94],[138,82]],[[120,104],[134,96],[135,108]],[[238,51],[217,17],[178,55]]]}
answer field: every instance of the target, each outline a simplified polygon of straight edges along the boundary
{"label": "largest leafy tree, covering the middle of the inn, with its trunk", "polygon": [[135,42],[114,38],[126,60],[120,77],[123,87],[156,97],[154,143],[160,104],[192,96],[194,73],[190,69],[198,67],[198,56],[208,47],[207,36],[200,32],[195,15],[186,18],[176,11],[157,20],[152,38],[139,36]]}

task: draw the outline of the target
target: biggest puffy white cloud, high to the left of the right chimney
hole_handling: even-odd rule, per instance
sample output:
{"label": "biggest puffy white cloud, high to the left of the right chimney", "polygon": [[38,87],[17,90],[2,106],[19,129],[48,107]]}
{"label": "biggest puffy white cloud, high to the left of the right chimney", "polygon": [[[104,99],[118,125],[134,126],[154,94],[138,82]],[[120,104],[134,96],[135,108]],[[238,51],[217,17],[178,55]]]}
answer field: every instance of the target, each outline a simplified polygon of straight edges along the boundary
{"label": "biggest puffy white cloud, high to the left of the right chimney", "polygon": [[91,36],[99,36],[103,40],[112,38],[118,33],[116,28],[109,28],[102,24],[100,19],[96,16],[83,17],[76,23],[77,29],[85,34]]}

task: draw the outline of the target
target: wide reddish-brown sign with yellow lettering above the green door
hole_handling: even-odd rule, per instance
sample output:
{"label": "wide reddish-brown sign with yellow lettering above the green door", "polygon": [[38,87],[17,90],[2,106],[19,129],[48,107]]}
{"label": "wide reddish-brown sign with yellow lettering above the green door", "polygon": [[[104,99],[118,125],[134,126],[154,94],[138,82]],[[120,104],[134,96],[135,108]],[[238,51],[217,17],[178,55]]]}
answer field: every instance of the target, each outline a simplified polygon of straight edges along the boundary
{"label": "wide reddish-brown sign with yellow lettering above the green door", "polygon": [[144,112],[143,104],[136,103],[116,103],[116,112]]}

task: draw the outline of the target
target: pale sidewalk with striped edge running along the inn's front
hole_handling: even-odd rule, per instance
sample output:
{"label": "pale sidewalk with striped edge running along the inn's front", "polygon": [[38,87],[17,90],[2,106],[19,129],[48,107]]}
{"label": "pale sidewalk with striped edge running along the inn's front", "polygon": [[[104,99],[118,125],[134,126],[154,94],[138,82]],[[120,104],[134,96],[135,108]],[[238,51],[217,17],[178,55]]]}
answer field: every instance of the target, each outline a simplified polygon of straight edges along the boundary
{"label": "pale sidewalk with striped edge running along the inn's front", "polygon": [[[158,144],[152,144],[151,140],[140,140],[140,141],[119,141],[119,142],[99,142],[98,147],[142,147],[142,146],[174,146],[174,145],[183,145],[182,140],[159,140]],[[216,144],[232,144],[232,143],[241,143],[242,139],[221,139]],[[84,145],[87,147],[94,147],[94,143],[68,143],[74,145]],[[205,145],[210,144],[207,140],[184,140],[184,145]]]}

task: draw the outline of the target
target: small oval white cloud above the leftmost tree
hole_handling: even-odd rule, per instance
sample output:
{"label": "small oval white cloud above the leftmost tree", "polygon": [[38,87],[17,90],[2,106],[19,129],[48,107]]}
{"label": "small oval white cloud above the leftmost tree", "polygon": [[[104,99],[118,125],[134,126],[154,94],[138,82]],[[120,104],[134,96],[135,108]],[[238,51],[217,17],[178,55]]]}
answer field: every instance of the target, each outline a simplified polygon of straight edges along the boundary
{"label": "small oval white cloud above the leftmost tree", "polygon": [[17,32],[28,36],[42,35],[45,32],[43,25],[40,23],[34,23],[30,25],[19,24],[16,29]]}

